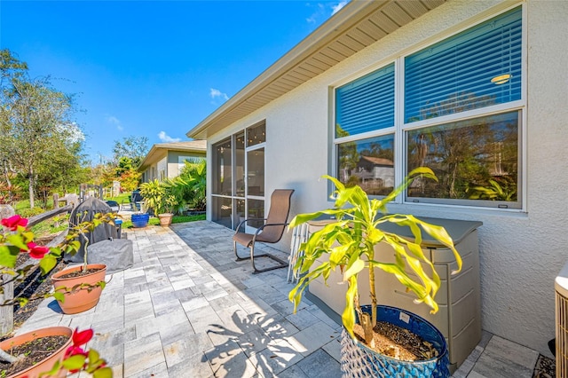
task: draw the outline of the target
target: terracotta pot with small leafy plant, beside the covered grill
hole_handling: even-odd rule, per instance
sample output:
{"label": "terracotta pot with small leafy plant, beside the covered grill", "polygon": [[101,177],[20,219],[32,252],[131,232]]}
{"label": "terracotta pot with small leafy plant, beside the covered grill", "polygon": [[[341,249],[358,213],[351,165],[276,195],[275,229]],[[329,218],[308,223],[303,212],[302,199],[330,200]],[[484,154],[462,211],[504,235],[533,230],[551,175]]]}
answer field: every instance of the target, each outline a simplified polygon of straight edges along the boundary
{"label": "terracotta pot with small leafy plant, beside the covered grill", "polygon": [[96,214],[93,220],[77,224],[67,235],[73,248],[78,249],[80,238],[84,242],[83,264],[56,272],[51,276],[54,296],[61,311],[66,314],[75,314],[87,311],[99,303],[99,298],[105,287],[105,264],[88,264],[89,238],[85,233],[93,232],[102,223],[114,223],[114,216],[109,214]]}

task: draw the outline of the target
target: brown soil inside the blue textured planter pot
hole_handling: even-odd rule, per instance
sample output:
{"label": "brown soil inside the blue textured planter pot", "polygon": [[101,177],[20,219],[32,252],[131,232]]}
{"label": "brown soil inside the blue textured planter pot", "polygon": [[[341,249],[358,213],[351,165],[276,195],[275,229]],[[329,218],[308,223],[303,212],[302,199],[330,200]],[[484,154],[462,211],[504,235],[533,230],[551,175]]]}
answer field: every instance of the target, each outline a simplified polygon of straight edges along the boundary
{"label": "brown soil inside the blue textured planter pot", "polygon": [[363,327],[355,324],[353,333],[359,343],[367,345],[384,356],[402,361],[424,361],[438,357],[438,350],[431,343],[424,341],[419,335],[415,335],[406,328],[395,326],[386,321],[377,321],[373,328],[375,348],[365,344]]}

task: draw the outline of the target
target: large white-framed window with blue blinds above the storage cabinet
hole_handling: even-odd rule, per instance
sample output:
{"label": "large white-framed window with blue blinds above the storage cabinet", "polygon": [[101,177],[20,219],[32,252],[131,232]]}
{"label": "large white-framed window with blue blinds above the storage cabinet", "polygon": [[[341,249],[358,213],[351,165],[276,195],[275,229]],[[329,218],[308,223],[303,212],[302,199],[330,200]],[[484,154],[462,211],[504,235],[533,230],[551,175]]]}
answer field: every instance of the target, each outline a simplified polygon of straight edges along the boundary
{"label": "large white-framed window with blue blinds above the storage cabinet", "polygon": [[517,7],[336,88],[336,177],[384,195],[426,166],[405,201],[520,209],[522,75]]}

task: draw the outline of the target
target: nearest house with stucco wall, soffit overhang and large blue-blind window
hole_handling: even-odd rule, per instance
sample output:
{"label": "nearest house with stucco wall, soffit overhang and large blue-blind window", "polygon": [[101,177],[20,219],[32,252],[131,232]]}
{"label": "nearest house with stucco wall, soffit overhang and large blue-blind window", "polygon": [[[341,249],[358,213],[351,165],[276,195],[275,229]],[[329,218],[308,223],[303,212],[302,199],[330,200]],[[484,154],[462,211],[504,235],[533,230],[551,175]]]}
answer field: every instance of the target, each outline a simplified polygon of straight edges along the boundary
{"label": "nearest house with stucco wall, soffit overhang and large blue-blind window", "polygon": [[[327,208],[320,177],[355,172],[349,156],[389,152],[395,185],[429,166],[440,185],[390,212],[483,222],[482,326],[550,356],[568,261],[566,20],[566,1],[352,1],[187,133],[208,142],[208,219],[234,227],[276,188],[296,190],[291,216]],[[509,199],[469,199],[489,178]]]}

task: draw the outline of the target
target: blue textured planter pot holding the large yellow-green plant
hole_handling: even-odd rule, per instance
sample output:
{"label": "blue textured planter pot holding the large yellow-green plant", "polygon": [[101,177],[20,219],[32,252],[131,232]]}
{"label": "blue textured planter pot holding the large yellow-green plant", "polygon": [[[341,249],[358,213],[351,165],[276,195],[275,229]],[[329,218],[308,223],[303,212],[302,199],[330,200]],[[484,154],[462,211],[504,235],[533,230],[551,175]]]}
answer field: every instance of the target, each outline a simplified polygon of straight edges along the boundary
{"label": "blue textured planter pot holding the large yellow-green plant", "polygon": [[[379,305],[377,321],[387,321],[419,335],[438,350],[438,357],[424,361],[401,361],[383,356],[351,338],[344,329],[341,340],[341,371],[343,377],[435,377],[450,376],[449,357],[444,335],[438,328],[418,315],[395,307]],[[371,306],[362,306],[371,313]],[[406,321],[407,320],[407,321]]]}

